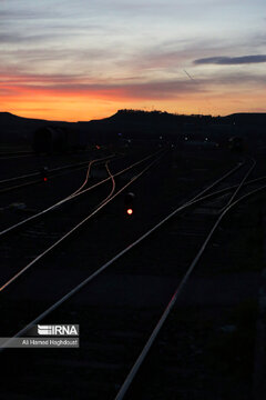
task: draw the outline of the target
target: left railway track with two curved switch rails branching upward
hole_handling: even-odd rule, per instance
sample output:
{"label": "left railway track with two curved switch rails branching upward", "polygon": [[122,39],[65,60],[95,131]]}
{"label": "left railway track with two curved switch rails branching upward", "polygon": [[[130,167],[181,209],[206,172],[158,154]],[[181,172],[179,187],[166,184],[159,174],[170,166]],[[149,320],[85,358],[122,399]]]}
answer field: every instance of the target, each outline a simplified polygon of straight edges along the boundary
{"label": "left railway track with two curved switch rails branching upward", "polygon": [[[157,160],[162,157],[160,154],[151,154],[137,162],[126,167],[122,171],[115,173],[116,177],[123,177],[129,171],[133,174],[126,178],[126,183],[115,183],[114,174],[111,173],[108,163],[106,172],[109,177],[99,183],[84,189],[88,183],[89,174],[82,186],[68,198],[54,204],[48,210],[42,211],[33,218],[23,220],[1,232],[1,254],[2,254],[2,272],[0,291],[4,290],[10,283],[14,282],[29,268],[37,264],[41,259],[52,253],[54,249],[62,246],[71,236],[76,233],[90,219],[92,219],[99,211],[101,211],[110,201],[123,192],[132,182],[139,179],[146,172]],[[133,170],[133,171],[132,171]],[[90,168],[88,172],[90,171]],[[109,188],[109,181],[112,186]],[[103,184],[105,183],[105,184]],[[84,197],[91,192],[91,189],[98,189],[93,196]],[[116,189],[115,193],[114,190]],[[83,190],[83,191],[82,191]],[[91,193],[90,193],[91,194]],[[63,207],[60,207],[63,206]],[[88,211],[90,212],[88,213]],[[52,216],[49,211],[53,211]],[[54,212],[59,212],[57,220]],[[39,221],[29,228],[30,222],[35,222],[35,217]],[[24,230],[21,229],[25,228]],[[17,231],[19,233],[17,234]],[[11,236],[10,236],[11,234]],[[8,238],[7,238],[8,236]],[[38,252],[38,253],[37,253]],[[13,257],[16,253],[16,257]],[[23,266],[28,262],[25,266]]]}

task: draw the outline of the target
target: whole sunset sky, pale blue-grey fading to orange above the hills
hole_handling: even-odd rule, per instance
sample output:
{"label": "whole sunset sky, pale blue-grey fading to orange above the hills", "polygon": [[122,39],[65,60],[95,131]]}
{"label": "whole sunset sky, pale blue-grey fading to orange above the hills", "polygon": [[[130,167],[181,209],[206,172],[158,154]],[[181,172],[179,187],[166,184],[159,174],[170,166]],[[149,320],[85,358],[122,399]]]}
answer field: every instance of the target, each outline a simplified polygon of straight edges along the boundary
{"label": "whole sunset sky, pale blue-grey fading to orange above the hills", "polygon": [[0,111],[266,112],[265,0],[0,0]]}

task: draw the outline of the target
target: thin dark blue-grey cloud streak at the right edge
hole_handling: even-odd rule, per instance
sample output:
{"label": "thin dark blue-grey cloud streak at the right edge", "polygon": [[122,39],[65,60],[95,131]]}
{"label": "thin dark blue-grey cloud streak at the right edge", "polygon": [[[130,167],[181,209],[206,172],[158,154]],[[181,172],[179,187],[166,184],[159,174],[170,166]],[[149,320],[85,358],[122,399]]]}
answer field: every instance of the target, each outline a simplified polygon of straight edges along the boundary
{"label": "thin dark blue-grey cloud streak at the right edge", "polygon": [[242,56],[242,57],[209,57],[197,59],[194,61],[194,64],[218,64],[218,66],[238,66],[246,63],[260,63],[266,62],[266,56]]}

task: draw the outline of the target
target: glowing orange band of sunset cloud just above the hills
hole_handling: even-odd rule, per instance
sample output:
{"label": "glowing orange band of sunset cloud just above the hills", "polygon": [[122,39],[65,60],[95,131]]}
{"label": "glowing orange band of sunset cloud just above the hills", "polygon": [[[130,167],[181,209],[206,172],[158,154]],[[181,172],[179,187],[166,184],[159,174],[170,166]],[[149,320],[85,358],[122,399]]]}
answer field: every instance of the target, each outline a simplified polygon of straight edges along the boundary
{"label": "glowing orange band of sunset cloud just above the hills", "polygon": [[[1,111],[51,120],[104,118],[121,108],[160,109],[178,113],[228,114],[262,110],[266,94],[260,84],[248,90],[243,77],[154,82],[88,81],[82,76],[0,74]],[[254,80],[260,78],[252,78]],[[255,82],[256,83],[256,82]],[[246,88],[247,86],[247,88]],[[234,91],[232,89],[234,87]],[[252,94],[250,94],[252,93]]]}

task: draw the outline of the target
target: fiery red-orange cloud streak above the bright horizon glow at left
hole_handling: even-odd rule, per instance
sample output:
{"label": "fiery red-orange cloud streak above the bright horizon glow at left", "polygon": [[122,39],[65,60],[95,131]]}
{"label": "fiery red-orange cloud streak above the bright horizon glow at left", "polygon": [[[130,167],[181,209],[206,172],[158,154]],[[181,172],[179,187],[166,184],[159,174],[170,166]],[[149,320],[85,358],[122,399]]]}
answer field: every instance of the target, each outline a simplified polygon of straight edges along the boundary
{"label": "fiery red-orange cloud streak above the bright horizon glow at left", "polygon": [[30,91],[53,94],[95,96],[110,99],[174,99],[184,94],[204,92],[201,84],[187,80],[149,81],[136,83],[86,81],[82,76],[35,76],[8,77],[0,73],[4,89],[19,92]]}

